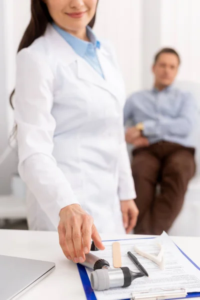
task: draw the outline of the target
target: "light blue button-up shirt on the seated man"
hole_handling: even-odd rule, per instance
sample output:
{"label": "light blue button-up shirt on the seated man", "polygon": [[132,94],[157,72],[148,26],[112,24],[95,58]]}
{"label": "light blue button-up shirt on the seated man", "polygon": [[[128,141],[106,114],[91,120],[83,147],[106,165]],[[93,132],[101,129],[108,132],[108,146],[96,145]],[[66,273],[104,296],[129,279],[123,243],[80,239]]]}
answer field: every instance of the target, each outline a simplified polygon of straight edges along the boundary
{"label": "light blue button-up shirt on the seated man", "polygon": [[124,123],[143,122],[143,134],[150,144],[160,140],[195,147],[197,108],[193,96],[173,86],[133,93],[124,107]]}

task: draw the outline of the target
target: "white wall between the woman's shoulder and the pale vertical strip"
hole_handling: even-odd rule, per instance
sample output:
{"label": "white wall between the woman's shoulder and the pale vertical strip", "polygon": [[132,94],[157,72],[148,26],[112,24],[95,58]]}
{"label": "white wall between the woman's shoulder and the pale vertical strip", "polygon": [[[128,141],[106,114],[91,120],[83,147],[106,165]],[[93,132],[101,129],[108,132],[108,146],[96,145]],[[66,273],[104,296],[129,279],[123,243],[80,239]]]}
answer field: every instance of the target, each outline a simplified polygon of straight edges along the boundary
{"label": "white wall between the woman's shoulder and the pale vertical strip", "polygon": [[141,88],[141,16],[141,0],[99,0],[94,30],[113,43],[127,93]]}

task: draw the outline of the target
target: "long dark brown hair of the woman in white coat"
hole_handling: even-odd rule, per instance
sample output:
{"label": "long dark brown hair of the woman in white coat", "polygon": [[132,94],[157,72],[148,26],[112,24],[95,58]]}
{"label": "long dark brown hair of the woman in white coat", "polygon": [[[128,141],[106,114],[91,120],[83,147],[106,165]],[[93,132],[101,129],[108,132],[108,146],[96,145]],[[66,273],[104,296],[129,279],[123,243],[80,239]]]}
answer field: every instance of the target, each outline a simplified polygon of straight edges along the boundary
{"label": "long dark brown hair of the woman in white coat", "polygon": [[[92,20],[89,22],[89,26],[92,28],[95,23],[96,14],[93,16]],[[25,29],[23,37],[19,43],[18,51],[28,47],[31,43],[38,37],[44,34],[46,26],[49,22],[52,22],[52,18],[48,12],[46,4],[43,0],[31,0],[31,18],[30,22]],[[12,96],[14,90],[12,91],[9,102],[12,108]]]}

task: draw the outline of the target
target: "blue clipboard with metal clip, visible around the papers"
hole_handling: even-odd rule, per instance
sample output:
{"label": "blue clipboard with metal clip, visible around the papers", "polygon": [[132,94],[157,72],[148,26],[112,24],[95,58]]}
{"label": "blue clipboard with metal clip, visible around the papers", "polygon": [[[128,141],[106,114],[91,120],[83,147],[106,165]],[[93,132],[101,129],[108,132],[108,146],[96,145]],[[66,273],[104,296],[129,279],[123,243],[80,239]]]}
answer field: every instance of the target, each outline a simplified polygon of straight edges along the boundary
{"label": "blue clipboard with metal clip, visible around the papers", "polygon": [[[113,240],[103,240],[103,241],[120,241],[120,240],[135,240],[135,239],[153,239],[153,238],[155,238],[155,237],[125,238],[125,239],[113,239]],[[177,245],[176,245],[176,247],[200,271],[200,267],[197,266],[197,264],[195,264],[191,260],[191,258],[189,258]],[[78,268],[78,272],[79,272],[79,275],[80,275],[80,279],[82,281],[82,285],[83,285],[83,288],[84,288],[86,299],[87,300],[97,300],[96,296],[95,296],[95,293],[94,293],[94,291],[93,291],[93,289],[91,287],[90,280],[89,280],[89,277],[87,275],[85,267],[83,265],[77,263],[77,268]],[[179,293],[175,293],[174,297],[171,297],[169,299],[181,298],[181,297],[183,297],[182,295],[184,293],[186,294],[186,296],[184,296],[184,298],[200,297],[200,292],[188,292],[188,293],[186,293],[186,291],[184,289],[182,289],[182,288],[180,288],[179,290],[180,290]],[[139,293],[139,295],[141,295],[141,293]],[[173,294],[171,294],[171,296],[172,295]],[[145,299],[145,300],[152,300],[152,299],[159,300],[159,299],[166,299],[166,297],[164,297],[163,294],[162,295],[156,294],[156,295],[153,295],[153,296],[154,297],[152,297],[152,295],[148,296],[146,294],[146,295],[143,295],[143,297],[141,297],[141,296],[137,297],[137,295],[132,295],[132,298],[123,299],[123,300],[143,300],[143,299]],[[169,299],[167,299],[167,300],[169,300]]]}

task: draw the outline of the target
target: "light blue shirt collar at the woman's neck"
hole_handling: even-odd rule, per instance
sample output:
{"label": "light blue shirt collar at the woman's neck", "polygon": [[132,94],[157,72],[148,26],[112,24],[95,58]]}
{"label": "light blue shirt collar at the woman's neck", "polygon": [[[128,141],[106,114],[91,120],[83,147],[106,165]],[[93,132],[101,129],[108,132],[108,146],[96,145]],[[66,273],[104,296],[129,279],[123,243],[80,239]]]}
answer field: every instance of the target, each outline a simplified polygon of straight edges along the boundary
{"label": "light blue shirt collar at the woman's neck", "polygon": [[66,40],[66,42],[69,43],[69,45],[79,56],[84,56],[87,48],[91,45],[94,47],[94,49],[100,48],[100,42],[96,39],[96,36],[89,26],[86,27],[86,31],[90,41],[82,40],[76,36],[71,35],[67,31],[61,29],[55,23],[52,23],[52,26]]}

